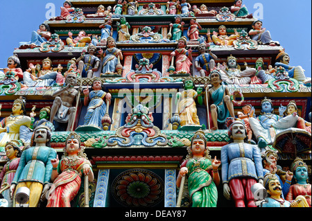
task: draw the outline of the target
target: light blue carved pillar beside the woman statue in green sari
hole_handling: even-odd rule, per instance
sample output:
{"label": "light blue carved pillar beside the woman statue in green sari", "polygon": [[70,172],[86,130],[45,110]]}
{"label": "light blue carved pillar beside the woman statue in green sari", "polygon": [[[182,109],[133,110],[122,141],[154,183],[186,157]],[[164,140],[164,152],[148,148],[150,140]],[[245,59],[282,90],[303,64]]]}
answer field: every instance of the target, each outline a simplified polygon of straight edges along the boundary
{"label": "light blue carved pillar beside the woman statue in green sari", "polygon": [[175,170],[165,170],[165,195],[164,207],[175,207],[177,204],[177,194],[175,187]]}

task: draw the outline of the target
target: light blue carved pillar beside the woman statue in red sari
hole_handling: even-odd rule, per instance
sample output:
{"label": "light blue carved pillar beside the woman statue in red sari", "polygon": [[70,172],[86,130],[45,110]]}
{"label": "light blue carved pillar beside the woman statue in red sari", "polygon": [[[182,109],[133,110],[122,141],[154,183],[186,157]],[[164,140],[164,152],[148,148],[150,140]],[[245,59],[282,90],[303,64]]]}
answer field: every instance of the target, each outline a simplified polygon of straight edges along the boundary
{"label": "light blue carved pillar beside the woman statue in red sari", "polygon": [[98,182],[96,184],[96,193],[94,196],[94,207],[105,207],[106,206],[106,194],[108,187],[108,178],[110,176],[110,170],[99,170],[98,171]]}

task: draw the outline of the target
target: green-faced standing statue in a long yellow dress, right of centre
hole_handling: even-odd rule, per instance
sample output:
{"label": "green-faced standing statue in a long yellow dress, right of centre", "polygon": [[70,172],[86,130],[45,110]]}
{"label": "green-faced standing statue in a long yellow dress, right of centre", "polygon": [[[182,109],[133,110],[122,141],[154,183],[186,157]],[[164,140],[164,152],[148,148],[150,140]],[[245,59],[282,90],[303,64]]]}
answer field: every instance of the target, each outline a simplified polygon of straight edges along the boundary
{"label": "green-faced standing statue in a long yellow dress, right of centre", "polygon": [[195,100],[197,99],[198,103],[202,105],[202,88],[198,87],[197,91],[195,91],[194,87],[194,82],[191,79],[184,80],[184,91],[177,94],[181,126],[200,125]]}

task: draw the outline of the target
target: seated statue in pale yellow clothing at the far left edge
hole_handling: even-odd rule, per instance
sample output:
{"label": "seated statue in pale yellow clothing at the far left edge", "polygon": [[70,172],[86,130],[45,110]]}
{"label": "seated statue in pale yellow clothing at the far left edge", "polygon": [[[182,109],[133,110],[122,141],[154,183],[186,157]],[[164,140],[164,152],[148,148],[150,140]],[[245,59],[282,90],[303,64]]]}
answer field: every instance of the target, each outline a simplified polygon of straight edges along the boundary
{"label": "seated statue in pale yellow clothing at the far left edge", "polygon": [[31,126],[31,118],[26,116],[26,99],[23,97],[14,100],[12,114],[0,122],[0,147],[5,147],[8,141],[19,139],[21,125]]}

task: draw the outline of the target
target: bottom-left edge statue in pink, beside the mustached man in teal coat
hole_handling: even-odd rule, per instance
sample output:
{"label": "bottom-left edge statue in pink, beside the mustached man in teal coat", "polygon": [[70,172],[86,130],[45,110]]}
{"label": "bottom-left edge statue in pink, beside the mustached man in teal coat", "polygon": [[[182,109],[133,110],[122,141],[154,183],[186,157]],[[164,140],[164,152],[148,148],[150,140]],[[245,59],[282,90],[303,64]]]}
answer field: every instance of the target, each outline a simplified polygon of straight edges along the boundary
{"label": "bottom-left edge statue in pink, beside the mustached man in teal coat", "polygon": [[8,162],[3,166],[0,173],[0,193],[3,198],[8,200],[8,207],[13,206],[13,201],[10,196],[10,185],[19,166],[19,157],[21,157],[22,143],[17,140],[8,141],[6,143],[6,157]]}

